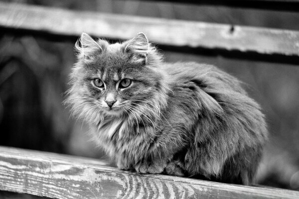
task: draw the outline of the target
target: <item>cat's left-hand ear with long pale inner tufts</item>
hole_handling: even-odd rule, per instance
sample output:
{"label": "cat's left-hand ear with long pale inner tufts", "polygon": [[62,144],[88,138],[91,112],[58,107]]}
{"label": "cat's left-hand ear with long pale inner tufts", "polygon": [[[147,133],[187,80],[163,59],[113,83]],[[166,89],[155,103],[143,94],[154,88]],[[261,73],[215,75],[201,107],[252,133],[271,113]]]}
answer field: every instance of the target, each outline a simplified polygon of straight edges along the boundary
{"label": "cat's left-hand ear with long pale inner tufts", "polygon": [[86,60],[91,59],[95,53],[100,54],[103,51],[100,44],[85,32],[77,40],[75,49],[79,52],[79,56]]}

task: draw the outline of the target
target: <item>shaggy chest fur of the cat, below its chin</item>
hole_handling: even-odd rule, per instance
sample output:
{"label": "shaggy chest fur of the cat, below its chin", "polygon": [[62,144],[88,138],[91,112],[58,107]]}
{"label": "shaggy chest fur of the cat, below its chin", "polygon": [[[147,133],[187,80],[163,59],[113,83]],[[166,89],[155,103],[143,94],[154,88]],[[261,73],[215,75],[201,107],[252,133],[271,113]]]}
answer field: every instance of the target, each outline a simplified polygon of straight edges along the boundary
{"label": "shaggy chest fur of the cat, below its chin", "polygon": [[124,118],[104,119],[93,129],[99,145],[117,161],[121,157],[127,167],[148,153],[150,140],[143,132],[152,130]]}

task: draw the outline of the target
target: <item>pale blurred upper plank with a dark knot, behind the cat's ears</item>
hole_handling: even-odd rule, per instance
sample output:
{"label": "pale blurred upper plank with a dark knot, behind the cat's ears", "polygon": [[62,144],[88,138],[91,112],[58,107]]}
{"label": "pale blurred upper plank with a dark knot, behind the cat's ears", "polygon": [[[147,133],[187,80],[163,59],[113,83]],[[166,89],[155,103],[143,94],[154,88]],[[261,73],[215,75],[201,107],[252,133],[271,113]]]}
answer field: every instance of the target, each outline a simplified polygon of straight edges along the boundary
{"label": "pale blurred upper plank with a dark knot, behind the cat's ears", "polygon": [[145,32],[151,42],[173,47],[224,49],[299,56],[299,31],[170,20],[0,2],[0,27],[55,35],[129,39]]}

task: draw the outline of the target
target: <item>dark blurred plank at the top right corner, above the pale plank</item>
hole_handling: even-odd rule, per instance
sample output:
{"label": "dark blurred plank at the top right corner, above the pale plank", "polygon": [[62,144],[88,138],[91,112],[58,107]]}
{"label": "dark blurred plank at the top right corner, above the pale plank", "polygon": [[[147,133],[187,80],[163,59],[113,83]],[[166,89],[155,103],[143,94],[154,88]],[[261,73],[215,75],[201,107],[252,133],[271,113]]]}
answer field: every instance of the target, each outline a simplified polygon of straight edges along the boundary
{"label": "dark blurred plank at the top right corner, above the pale plank", "polygon": [[172,3],[192,3],[197,5],[229,6],[265,10],[299,11],[299,0],[151,0]]}

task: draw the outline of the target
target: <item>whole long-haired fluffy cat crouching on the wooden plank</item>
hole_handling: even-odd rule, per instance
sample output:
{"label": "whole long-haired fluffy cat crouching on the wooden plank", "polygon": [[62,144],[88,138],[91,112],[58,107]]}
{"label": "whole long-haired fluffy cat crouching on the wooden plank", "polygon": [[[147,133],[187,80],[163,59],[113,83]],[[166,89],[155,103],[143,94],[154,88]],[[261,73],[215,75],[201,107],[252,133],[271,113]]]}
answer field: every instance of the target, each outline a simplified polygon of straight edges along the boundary
{"label": "whole long-haired fluffy cat crouching on the wooden plank", "polygon": [[110,44],[82,33],[66,102],[118,168],[250,185],[265,116],[235,77],[164,63],[144,33]]}

